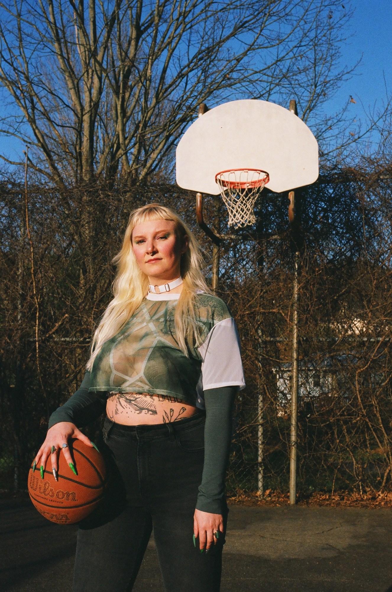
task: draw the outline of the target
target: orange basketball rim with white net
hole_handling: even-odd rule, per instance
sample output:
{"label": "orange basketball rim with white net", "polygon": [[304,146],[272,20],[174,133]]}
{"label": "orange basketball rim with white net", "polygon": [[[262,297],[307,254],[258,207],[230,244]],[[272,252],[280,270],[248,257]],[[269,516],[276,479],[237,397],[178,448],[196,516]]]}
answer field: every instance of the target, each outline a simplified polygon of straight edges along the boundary
{"label": "orange basketball rim with white net", "polygon": [[229,212],[229,226],[243,228],[256,221],[254,204],[270,176],[260,169],[222,170],[215,175]]}

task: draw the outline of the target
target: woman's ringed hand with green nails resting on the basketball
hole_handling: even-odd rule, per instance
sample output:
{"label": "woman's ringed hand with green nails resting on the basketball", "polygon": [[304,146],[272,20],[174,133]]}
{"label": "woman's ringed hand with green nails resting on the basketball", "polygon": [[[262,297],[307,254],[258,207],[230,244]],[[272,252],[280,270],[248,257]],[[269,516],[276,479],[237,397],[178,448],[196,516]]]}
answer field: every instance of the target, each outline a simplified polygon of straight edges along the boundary
{"label": "woman's ringed hand with green nails resting on the basketball", "polygon": [[[56,481],[58,481],[57,472],[59,471],[59,454],[61,451],[63,452],[63,455],[67,461],[67,465],[69,465],[72,471],[76,474],[74,461],[68,445],[70,438],[77,438],[78,440],[81,440],[81,442],[84,442],[86,445],[93,448],[93,445],[88,437],[82,434],[82,432],[80,432],[79,428],[77,428],[74,423],[55,423],[54,426],[48,429],[45,442],[39,449],[37,456],[35,456],[34,459],[34,463],[37,468],[41,469],[41,476],[43,475],[43,471],[46,468],[47,460],[50,457],[51,471],[53,472]],[[64,444],[67,446],[63,447]]]}

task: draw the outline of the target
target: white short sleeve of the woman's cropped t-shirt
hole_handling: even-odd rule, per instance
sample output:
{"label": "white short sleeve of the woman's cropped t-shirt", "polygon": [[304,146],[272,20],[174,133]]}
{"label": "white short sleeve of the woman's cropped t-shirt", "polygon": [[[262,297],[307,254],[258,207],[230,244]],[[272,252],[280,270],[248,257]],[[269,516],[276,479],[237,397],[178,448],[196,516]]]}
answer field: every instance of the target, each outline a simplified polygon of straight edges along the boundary
{"label": "white short sleeve of the woman's cropped t-shirt", "polygon": [[241,346],[234,318],[224,318],[216,323],[200,345],[199,353],[203,362],[198,391],[234,386],[240,390],[245,388]]}

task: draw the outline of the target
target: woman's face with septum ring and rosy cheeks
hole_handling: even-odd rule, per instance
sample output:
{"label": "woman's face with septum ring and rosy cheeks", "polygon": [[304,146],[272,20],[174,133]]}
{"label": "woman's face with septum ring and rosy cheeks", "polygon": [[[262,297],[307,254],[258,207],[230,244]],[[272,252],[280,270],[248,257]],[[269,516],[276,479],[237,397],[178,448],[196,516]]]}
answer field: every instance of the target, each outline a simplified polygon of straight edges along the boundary
{"label": "woman's face with septum ring and rosy cheeks", "polygon": [[180,275],[180,259],[187,249],[187,236],[181,240],[176,235],[172,220],[148,220],[132,231],[132,248],[138,265],[150,278],[170,282]]}

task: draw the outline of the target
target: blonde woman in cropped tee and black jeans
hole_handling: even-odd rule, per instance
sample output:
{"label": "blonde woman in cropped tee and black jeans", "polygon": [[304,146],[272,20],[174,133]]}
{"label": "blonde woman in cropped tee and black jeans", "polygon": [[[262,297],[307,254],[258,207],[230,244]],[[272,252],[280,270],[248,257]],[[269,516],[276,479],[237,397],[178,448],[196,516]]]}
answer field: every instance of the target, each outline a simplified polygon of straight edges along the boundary
{"label": "blonde woman in cropped tee and black jeans", "polygon": [[79,427],[106,408],[111,487],[79,525],[74,592],[132,590],[153,529],[168,592],[217,592],[232,407],[245,386],[237,329],[169,208],[132,212],[115,262],[85,378],[35,458],[50,458],[55,478],[60,452],[74,469],[67,442],[92,445]]}

